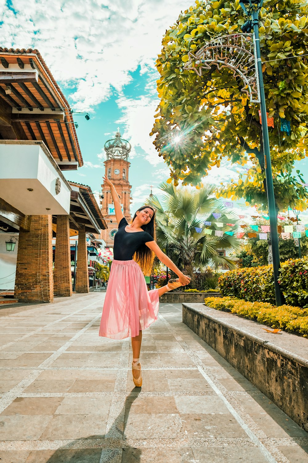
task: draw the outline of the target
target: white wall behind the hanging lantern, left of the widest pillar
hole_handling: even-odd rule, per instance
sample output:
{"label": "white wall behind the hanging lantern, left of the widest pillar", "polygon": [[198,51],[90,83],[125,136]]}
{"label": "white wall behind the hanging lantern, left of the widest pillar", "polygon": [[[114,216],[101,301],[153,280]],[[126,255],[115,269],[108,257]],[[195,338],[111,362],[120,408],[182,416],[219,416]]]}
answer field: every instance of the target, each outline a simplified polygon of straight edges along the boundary
{"label": "white wall behind the hanging lantern, left of the widest pillar", "polygon": [[10,237],[18,238],[18,233],[0,233],[0,292],[14,290],[18,242],[12,252],[6,250]]}

